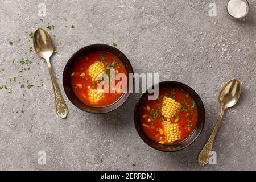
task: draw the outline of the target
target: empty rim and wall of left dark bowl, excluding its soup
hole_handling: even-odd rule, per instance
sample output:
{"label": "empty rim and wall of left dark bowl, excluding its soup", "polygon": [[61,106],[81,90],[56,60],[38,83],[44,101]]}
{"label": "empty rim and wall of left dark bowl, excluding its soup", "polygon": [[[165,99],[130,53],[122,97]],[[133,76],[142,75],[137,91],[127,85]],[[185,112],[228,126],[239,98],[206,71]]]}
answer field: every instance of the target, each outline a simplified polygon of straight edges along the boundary
{"label": "empty rim and wall of left dark bowl, excluding its soup", "polygon": [[[77,51],[71,58],[68,60],[68,63],[65,65],[64,71],[63,71],[63,86],[65,93],[67,94],[69,100],[79,109],[87,111],[89,113],[109,113],[110,111],[113,111],[120,107],[129,97],[130,93],[124,93],[122,97],[119,98],[116,102],[114,102],[112,105],[105,106],[105,107],[93,107],[90,105],[86,105],[84,102],[81,102],[79,98],[76,97],[76,94],[73,92],[72,86],[71,86],[71,74],[73,70],[73,66],[77,63],[77,61],[84,56],[86,53],[89,52],[96,52],[96,51],[105,51],[110,52],[113,55],[117,56],[122,63],[125,65],[127,73],[133,73],[133,68],[131,67],[130,61],[127,59],[127,57],[119,51],[117,48],[106,45],[106,44],[92,44],[90,46],[86,46],[84,48],[81,48],[79,51]],[[127,83],[129,83],[129,78],[127,78]],[[128,88],[129,89],[129,88]]]}

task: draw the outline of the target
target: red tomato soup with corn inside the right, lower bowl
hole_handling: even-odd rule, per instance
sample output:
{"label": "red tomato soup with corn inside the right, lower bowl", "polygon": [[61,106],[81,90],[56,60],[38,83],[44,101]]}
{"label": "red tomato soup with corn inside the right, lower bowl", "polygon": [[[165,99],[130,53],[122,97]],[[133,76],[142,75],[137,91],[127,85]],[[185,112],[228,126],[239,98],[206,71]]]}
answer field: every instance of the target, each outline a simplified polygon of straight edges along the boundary
{"label": "red tomato soup with corn inside the right, lower bowl", "polygon": [[[174,111],[174,115],[166,114],[168,111],[164,110],[172,107],[168,107],[170,105],[164,100],[175,101],[178,110]],[[198,116],[196,103],[188,93],[179,88],[159,88],[158,99],[146,98],[140,109],[143,130],[155,142],[179,143],[195,130]]]}

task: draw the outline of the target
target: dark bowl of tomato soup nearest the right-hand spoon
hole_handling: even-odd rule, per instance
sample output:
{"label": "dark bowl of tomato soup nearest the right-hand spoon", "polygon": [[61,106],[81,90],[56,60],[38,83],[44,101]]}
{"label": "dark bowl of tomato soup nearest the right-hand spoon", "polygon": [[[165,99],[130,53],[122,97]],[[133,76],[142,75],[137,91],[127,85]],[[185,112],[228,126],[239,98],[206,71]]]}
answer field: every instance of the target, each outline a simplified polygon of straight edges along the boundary
{"label": "dark bowl of tomato soup nearest the right-hand spoon", "polygon": [[160,82],[158,88],[158,97],[150,100],[147,91],[135,106],[134,122],[139,136],[160,151],[188,147],[204,127],[203,101],[192,88],[180,82]]}

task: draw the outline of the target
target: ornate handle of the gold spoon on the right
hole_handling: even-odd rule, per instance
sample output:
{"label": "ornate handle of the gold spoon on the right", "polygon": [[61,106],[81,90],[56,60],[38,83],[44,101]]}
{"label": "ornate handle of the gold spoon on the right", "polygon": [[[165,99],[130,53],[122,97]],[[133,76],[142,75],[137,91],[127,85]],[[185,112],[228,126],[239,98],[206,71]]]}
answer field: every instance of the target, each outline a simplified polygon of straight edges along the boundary
{"label": "ornate handle of the gold spoon on the right", "polygon": [[217,134],[218,127],[220,126],[223,114],[224,114],[224,109],[222,108],[220,115],[218,116],[216,125],[214,126],[214,129],[212,131],[212,134],[210,135],[207,143],[205,144],[204,148],[201,150],[201,152],[198,156],[198,162],[199,162],[200,166],[204,166],[205,164],[207,164],[209,162],[209,158],[210,158],[209,152],[212,151],[213,142],[214,142],[215,136]]}

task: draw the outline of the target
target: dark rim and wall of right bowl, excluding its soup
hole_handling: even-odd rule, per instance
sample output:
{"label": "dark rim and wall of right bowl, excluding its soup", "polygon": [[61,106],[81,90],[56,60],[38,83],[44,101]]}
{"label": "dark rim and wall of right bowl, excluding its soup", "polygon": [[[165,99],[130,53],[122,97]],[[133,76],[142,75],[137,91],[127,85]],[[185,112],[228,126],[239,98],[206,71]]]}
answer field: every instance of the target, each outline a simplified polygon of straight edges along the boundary
{"label": "dark rim and wall of right bowl, excluding its soup", "polygon": [[156,150],[165,151],[165,152],[179,151],[185,147],[188,147],[190,144],[192,144],[197,139],[197,137],[199,137],[201,131],[203,130],[204,122],[205,122],[204,104],[203,104],[203,101],[201,101],[201,98],[199,97],[199,95],[188,85],[185,85],[176,81],[164,81],[159,83],[159,89],[162,87],[180,88],[185,92],[187,92],[193,98],[193,100],[196,102],[197,109],[198,109],[198,119],[197,119],[197,125],[195,130],[192,132],[191,135],[189,135],[188,138],[184,139],[179,143],[175,143],[171,145],[160,144],[150,139],[146,135],[146,133],[144,133],[144,130],[141,125],[141,121],[139,119],[139,110],[143,104],[143,101],[146,100],[146,98],[148,97],[148,92],[142,94],[142,96],[139,98],[135,106],[135,110],[134,110],[135,127],[137,129],[139,136],[142,138],[142,140],[146,142],[149,146],[155,148]]}

